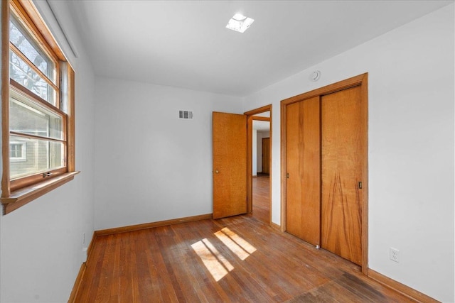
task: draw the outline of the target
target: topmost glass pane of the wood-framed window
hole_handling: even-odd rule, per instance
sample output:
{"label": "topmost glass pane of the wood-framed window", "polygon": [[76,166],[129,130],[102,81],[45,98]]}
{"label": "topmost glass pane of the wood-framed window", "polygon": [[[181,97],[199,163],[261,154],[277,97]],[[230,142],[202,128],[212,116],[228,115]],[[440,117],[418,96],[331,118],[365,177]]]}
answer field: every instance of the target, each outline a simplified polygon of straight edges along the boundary
{"label": "topmost glass pane of the wood-framed window", "polygon": [[14,16],[11,16],[9,23],[9,40],[55,84],[54,62],[41,51]]}

